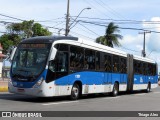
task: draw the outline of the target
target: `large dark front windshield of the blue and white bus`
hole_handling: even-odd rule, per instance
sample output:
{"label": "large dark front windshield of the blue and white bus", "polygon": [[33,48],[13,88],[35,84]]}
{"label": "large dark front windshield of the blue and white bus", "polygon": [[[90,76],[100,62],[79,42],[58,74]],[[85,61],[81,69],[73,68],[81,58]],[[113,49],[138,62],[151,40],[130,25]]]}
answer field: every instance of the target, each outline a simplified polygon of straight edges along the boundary
{"label": "large dark front windshield of the blue and white bus", "polygon": [[36,79],[45,69],[50,46],[50,44],[20,44],[12,61],[12,77],[23,81]]}

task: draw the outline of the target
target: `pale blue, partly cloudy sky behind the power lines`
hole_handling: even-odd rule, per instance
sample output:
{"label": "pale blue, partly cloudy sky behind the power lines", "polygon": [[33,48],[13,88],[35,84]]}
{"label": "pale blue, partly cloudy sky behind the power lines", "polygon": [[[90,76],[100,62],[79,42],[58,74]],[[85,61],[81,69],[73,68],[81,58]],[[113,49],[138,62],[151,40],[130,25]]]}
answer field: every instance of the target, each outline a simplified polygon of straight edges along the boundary
{"label": "pale blue, partly cloudy sky behind the power lines", "polygon": [[[159,0],[70,0],[69,35],[95,41],[105,34],[108,23],[114,22],[123,36],[121,47],[116,49],[141,56],[144,35],[140,33],[151,31],[145,35],[146,57],[160,65],[159,5]],[[39,22],[53,35],[64,35],[66,11],[67,0],[0,0],[0,32],[6,32],[2,21],[16,23],[21,19]]]}

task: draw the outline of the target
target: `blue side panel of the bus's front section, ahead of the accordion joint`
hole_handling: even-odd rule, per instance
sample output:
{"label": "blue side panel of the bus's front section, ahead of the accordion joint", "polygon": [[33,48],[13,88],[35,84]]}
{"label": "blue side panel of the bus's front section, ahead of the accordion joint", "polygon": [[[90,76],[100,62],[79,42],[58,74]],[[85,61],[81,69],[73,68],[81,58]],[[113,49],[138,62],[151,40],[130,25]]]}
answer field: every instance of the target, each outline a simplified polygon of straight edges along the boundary
{"label": "blue side panel of the bus's front section, ahead of the accordion joint", "polygon": [[102,85],[114,84],[115,81],[119,83],[127,82],[126,74],[105,73],[105,72],[77,72],[68,76],[55,80],[56,85],[73,85],[75,81],[81,81],[82,85]]}

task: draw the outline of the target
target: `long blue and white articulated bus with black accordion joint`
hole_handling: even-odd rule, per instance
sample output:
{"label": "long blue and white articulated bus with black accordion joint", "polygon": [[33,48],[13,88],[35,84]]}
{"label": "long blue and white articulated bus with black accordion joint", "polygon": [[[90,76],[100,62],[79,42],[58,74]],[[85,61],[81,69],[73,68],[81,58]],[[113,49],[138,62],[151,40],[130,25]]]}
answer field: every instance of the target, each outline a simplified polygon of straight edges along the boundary
{"label": "long blue and white articulated bus with black accordion joint", "polygon": [[77,37],[23,40],[11,55],[11,93],[38,97],[132,92],[157,87],[157,63]]}

